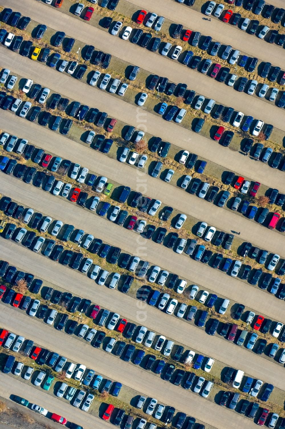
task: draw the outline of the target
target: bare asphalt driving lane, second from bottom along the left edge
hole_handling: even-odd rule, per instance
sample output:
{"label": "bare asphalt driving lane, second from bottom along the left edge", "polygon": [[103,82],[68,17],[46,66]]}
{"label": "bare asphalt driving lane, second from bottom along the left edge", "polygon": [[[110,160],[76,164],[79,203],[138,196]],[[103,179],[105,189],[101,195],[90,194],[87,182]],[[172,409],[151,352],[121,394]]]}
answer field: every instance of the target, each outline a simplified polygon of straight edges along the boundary
{"label": "bare asphalt driving lane, second from bottom along the left edge", "polygon": [[[94,369],[101,374],[107,374],[113,380],[120,381],[122,384],[147,394],[151,398],[156,398],[158,402],[172,405],[176,411],[192,415],[217,429],[255,428],[255,424],[247,417],[235,413],[235,418],[233,419],[233,414],[228,408],[219,407],[210,401],[205,402],[206,400],[201,396],[174,386],[159,377],[154,379],[153,374],[140,367],[132,366],[128,362],[119,360],[118,364],[118,358],[111,353],[95,349],[87,343],[79,343],[74,337],[67,336],[63,332],[59,332],[45,324],[39,324],[37,320],[31,320],[19,310],[15,311],[15,317],[12,318],[11,311],[15,310],[1,305],[1,326],[5,326],[6,329],[16,334],[23,335],[25,338],[30,338],[49,350],[56,351],[60,355],[67,357],[71,362],[82,363],[87,368]],[[81,414],[83,413],[82,411]],[[85,418],[84,414],[83,419]],[[67,417],[66,411],[65,417]]]}

